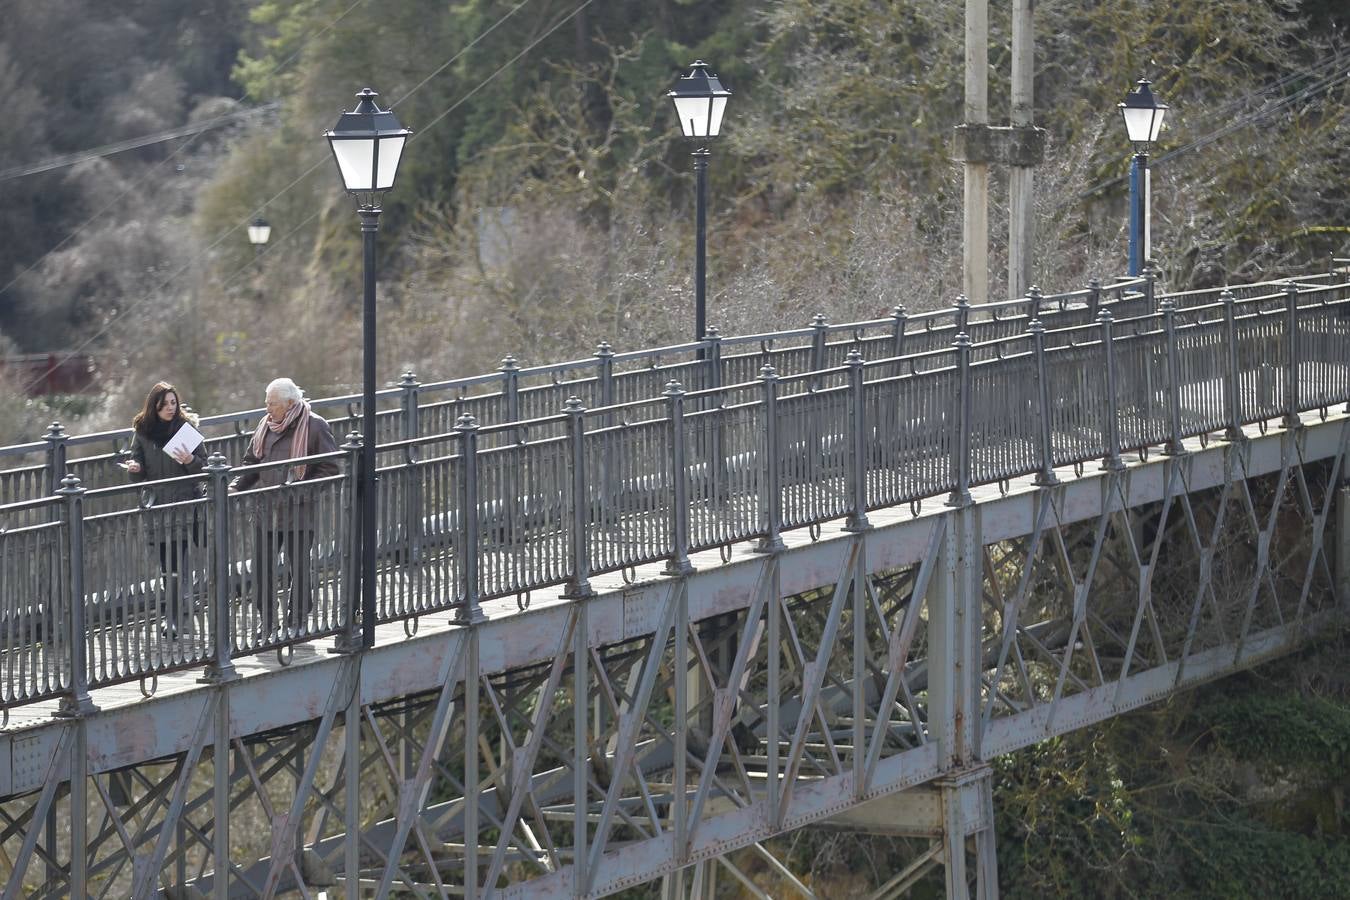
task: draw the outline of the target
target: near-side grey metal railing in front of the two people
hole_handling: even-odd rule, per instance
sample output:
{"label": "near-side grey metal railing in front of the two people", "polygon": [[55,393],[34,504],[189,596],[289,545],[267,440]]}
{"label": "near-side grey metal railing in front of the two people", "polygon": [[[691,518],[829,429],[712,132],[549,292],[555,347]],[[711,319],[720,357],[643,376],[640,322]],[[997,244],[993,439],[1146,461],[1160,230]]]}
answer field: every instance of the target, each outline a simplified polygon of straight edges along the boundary
{"label": "near-side grey metal railing in front of the two people", "polygon": [[[667,563],[1069,464],[1284,420],[1350,401],[1345,285],[1233,291],[1180,306],[971,340],[791,375],[479,425],[381,447],[379,622]],[[1126,312],[1126,310],[1120,310]],[[968,327],[972,322],[967,322]],[[972,328],[973,331],[973,328]],[[200,497],[148,486],[0,506],[0,707],[231,660],[356,627],[359,444],[312,461],[340,474],[231,493],[223,455]],[[274,466],[294,466],[286,460]],[[261,470],[266,467],[252,467]]]}

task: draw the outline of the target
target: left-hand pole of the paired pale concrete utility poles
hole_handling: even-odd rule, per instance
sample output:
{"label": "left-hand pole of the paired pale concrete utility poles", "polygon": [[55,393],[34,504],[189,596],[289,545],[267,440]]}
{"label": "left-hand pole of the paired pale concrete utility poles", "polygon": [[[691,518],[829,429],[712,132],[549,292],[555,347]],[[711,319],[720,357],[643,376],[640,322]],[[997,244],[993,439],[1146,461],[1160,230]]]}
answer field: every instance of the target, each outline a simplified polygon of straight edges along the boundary
{"label": "left-hand pole of the paired pale concrete utility poles", "polygon": [[[990,4],[965,3],[965,124],[986,130],[990,124]],[[987,154],[965,157],[965,225],[963,229],[961,283],[972,304],[990,298],[990,163]]]}

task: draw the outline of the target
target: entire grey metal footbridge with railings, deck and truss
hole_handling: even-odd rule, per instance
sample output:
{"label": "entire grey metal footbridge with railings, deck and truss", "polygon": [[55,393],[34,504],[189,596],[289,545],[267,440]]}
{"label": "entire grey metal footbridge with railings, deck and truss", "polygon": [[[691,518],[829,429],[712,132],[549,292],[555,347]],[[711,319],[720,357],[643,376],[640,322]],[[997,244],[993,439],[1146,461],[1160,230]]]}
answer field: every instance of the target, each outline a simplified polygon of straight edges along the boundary
{"label": "entire grey metal footbridge with railings, deck and truss", "polygon": [[116,483],[123,434],[0,449],[5,897],[815,897],[765,842],[818,824],[926,839],[876,900],[934,866],[994,897],[988,760],[1350,606],[1334,277],[381,402],[370,649],[355,440],[231,493],[261,410],[205,420],[167,505]]}

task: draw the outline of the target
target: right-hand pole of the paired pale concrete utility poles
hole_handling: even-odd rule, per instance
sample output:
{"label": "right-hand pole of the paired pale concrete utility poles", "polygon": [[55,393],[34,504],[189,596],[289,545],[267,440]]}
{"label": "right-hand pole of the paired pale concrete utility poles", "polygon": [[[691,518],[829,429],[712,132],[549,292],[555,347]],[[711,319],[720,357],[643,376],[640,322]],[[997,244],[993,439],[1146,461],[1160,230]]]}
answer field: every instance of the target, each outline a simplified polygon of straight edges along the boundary
{"label": "right-hand pole of the paired pale concrete utility poles", "polygon": [[[1035,0],[1013,0],[1013,108],[1008,124],[1031,128],[1035,92]],[[1031,215],[1034,163],[1014,161],[1008,173],[1008,297],[1025,297],[1031,289],[1031,248],[1035,223]]]}

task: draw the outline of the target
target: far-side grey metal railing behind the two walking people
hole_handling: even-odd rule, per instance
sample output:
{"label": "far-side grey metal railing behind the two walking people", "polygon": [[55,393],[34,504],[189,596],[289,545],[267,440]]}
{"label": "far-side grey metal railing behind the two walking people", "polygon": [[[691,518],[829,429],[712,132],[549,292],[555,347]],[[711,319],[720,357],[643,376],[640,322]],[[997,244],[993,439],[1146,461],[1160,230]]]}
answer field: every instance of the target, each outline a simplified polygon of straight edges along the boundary
{"label": "far-side grey metal railing behind the two walking people", "polygon": [[[375,393],[381,403],[377,436],[385,444],[418,434],[444,434],[463,414],[482,424],[543,418],[570,397],[587,406],[655,399],[670,381],[702,390],[753,379],[763,366],[792,375],[840,366],[850,349],[860,349],[868,359],[900,356],[946,347],[963,329],[976,341],[992,340],[1019,332],[1038,310],[1045,321],[1066,324],[1096,314],[1102,305],[1139,305],[1152,291],[1149,278],[1134,278],[1048,297],[1033,290],[1021,300],[980,306],[957,304],[914,316],[896,308],[891,316],[861,322],[830,325],[817,316],[806,328],[763,335],[722,337],[717,329],[709,329],[702,341],[651,349],[614,352],[609,344],[601,344],[594,356],[528,368],[508,356],[495,372],[425,385],[406,372],[396,387]],[[310,402],[335,434],[347,434],[359,430],[360,399],[360,394],[347,394]],[[208,453],[242,459],[263,412],[248,409],[202,417]],[[128,459],[130,444],[130,429],[68,434],[54,422],[40,441],[0,447],[0,503],[50,495],[68,474],[77,475],[85,486],[122,484],[126,474],[119,463]]]}

